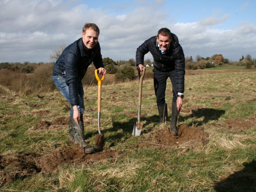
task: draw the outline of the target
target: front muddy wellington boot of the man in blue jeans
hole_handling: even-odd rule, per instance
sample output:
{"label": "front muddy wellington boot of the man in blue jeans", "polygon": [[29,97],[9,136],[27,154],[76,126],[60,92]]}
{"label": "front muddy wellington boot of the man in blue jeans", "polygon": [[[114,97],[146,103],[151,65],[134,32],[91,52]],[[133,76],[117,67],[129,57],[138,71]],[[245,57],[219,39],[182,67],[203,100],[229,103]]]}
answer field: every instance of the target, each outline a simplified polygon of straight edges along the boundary
{"label": "front muddy wellington boot of the man in blue jeans", "polygon": [[84,140],[84,122],[80,121],[79,125],[76,123],[74,118],[72,118],[73,130],[74,130],[74,144],[79,144],[79,147],[84,148],[84,153],[93,153],[95,148],[89,146],[87,142]]}

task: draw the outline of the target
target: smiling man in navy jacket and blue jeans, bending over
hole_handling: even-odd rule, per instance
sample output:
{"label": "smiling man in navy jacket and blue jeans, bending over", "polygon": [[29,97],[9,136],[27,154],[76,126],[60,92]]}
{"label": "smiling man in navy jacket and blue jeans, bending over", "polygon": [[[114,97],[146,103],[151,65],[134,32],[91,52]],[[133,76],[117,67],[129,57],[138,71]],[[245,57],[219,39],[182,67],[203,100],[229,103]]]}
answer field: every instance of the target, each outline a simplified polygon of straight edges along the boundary
{"label": "smiling man in navy jacket and blue jeans, bending over", "polygon": [[84,139],[84,88],[82,79],[93,62],[99,74],[105,75],[98,37],[100,30],[94,23],[86,23],[82,38],[68,45],[55,62],[52,71],[53,83],[71,105],[69,117],[69,141],[79,144],[85,153],[95,149]]}

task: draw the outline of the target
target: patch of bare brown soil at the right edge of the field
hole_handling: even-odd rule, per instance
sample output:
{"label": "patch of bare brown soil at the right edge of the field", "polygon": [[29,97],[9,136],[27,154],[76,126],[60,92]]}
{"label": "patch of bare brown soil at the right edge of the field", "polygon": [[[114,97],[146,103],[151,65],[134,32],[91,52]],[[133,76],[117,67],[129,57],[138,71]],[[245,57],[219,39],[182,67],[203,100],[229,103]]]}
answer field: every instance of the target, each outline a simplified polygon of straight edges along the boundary
{"label": "patch of bare brown soil at the right edge of the field", "polygon": [[240,119],[228,119],[226,120],[226,123],[228,124],[228,128],[236,131],[243,131],[247,130],[253,126],[256,126],[255,119],[253,121],[253,117],[246,119],[246,120],[240,120]]}

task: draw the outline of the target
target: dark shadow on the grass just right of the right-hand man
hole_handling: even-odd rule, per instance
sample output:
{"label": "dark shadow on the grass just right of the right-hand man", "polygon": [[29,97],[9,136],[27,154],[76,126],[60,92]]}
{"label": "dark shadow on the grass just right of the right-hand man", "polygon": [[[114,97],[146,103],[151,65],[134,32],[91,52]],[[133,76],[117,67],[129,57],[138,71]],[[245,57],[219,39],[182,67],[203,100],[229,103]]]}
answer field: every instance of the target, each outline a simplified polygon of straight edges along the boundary
{"label": "dark shadow on the grass just right of the right-hand man", "polygon": [[191,126],[192,124],[197,124],[198,126],[201,126],[208,121],[212,120],[218,120],[220,116],[225,114],[226,111],[220,110],[220,109],[214,109],[214,108],[198,108],[198,109],[192,109],[192,114],[188,116],[179,116],[179,121],[185,121],[186,119],[196,117],[196,118],[202,118],[204,119],[202,121],[197,120],[191,123],[188,126]]}

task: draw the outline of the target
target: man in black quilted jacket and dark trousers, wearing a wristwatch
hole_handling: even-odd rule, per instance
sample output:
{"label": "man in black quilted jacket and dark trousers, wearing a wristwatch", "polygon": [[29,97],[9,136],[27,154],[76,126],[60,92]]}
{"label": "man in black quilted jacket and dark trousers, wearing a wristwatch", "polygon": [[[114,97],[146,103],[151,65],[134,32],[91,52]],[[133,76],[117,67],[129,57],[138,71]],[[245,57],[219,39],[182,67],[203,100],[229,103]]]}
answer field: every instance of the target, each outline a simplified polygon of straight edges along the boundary
{"label": "man in black quilted jacket and dark trousers, wearing a wristwatch", "polygon": [[178,37],[168,28],[161,28],[141,44],[136,51],[137,70],[142,71],[144,55],[150,52],[154,58],[154,88],[160,122],[167,123],[168,112],[165,102],[166,80],[172,82],[172,117],[169,130],[173,136],[178,135],[177,120],[184,97],[185,58]]}

